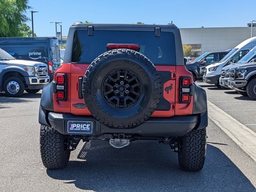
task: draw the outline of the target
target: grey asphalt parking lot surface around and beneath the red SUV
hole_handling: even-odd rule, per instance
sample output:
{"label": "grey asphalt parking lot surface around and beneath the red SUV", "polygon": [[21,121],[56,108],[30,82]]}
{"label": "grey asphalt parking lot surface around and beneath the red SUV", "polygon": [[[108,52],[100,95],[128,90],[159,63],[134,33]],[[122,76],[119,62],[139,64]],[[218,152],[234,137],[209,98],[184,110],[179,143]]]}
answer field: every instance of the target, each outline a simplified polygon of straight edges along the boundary
{"label": "grey asphalt parking lot surface around and beneath the red SUV", "polygon": [[[256,131],[256,102],[203,82],[208,100]],[[204,168],[184,172],[168,145],[136,141],[122,149],[106,141],[78,145],[63,170],[47,170],[40,158],[38,94],[0,93],[0,191],[256,191],[256,162],[212,120]],[[82,154],[82,155],[81,155]]]}

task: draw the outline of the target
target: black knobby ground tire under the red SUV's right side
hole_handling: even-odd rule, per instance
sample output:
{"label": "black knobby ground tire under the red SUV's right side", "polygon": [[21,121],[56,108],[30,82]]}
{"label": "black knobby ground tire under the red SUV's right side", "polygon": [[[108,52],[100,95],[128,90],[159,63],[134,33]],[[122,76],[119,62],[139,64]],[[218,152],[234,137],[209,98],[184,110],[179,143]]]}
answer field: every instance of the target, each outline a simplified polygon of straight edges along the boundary
{"label": "black knobby ground tire under the red SUV's right side", "polygon": [[206,128],[193,130],[180,140],[178,160],[185,171],[199,171],[204,166],[206,156]]}

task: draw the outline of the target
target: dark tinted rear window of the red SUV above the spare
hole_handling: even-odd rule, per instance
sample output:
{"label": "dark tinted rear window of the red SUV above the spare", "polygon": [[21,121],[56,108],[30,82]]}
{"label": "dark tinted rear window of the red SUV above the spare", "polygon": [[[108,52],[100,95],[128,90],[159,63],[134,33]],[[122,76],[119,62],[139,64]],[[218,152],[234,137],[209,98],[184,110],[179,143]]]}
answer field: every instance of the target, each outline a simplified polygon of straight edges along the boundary
{"label": "dark tinted rear window of the red SUV above the spare", "polygon": [[138,31],[76,31],[72,48],[72,62],[91,63],[107,51],[107,44],[139,44],[140,53],[147,56],[155,65],[175,65],[175,43],[172,32]]}

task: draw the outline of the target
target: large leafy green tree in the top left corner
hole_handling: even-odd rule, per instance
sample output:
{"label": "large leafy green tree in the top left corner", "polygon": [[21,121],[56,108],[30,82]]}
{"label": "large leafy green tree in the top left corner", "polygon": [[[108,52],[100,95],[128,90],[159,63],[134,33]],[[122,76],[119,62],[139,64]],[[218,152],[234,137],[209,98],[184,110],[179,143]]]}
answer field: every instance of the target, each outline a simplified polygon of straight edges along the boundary
{"label": "large leafy green tree in the top left corner", "polygon": [[26,16],[28,0],[0,0],[0,36],[23,36],[22,24],[30,20]]}

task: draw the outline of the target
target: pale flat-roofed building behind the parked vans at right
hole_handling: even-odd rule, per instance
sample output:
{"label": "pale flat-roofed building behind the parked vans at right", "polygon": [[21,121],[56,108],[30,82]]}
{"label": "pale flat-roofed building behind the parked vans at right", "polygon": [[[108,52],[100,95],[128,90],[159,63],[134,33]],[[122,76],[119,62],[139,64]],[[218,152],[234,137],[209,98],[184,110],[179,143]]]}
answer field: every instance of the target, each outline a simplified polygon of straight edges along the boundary
{"label": "pale flat-roofed building behind the parked vans at right", "polygon": [[256,36],[256,24],[246,27],[180,28],[182,44],[192,46],[196,55],[211,51],[232,49],[240,42]]}

